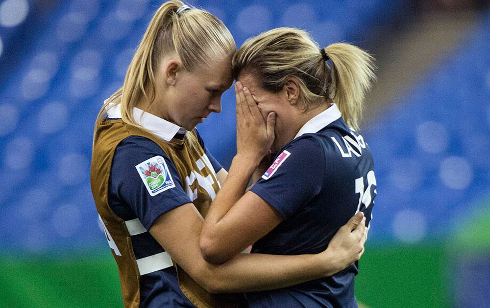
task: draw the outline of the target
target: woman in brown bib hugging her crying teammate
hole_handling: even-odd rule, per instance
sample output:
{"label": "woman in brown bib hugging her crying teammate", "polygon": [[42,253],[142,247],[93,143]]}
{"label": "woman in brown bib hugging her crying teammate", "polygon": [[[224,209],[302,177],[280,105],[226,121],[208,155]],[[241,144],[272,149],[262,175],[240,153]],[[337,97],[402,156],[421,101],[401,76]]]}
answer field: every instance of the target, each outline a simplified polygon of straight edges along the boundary
{"label": "woman in brown bib hugging her crying teammate", "polygon": [[358,215],[319,254],[239,254],[221,265],[202,258],[203,217],[227,173],[194,128],[210,112],[220,112],[235,52],[230,32],[216,17],[181,1],[165,2],[123,87],[98,114],[92,192],[126,307],[239,306],[243,294],[212,293],[329,276],[363,252],[365,227]]}

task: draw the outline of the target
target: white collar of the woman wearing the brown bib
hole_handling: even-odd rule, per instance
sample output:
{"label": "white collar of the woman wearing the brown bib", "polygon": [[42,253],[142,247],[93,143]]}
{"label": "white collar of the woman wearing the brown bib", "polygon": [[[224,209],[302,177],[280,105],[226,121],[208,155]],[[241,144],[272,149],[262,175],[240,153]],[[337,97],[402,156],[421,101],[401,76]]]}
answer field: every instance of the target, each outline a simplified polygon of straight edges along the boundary
{"label": "white collar of the woman wearing the brown bib", "polygon": [[[107,110],[107,116],[109,118],[121,118],[121,104]],[[133,108],[133,118],[136,123],[165,141],[172,140],[177,133],[187,133],[184,128],[136,107]]]}

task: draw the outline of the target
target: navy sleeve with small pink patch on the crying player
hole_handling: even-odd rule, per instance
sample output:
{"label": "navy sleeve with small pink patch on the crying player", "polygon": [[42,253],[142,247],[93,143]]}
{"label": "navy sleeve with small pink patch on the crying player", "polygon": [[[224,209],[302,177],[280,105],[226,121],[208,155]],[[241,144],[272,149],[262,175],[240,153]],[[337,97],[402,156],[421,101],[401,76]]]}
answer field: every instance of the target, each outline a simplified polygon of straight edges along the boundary
{"label": "navy sleeve with small pink patch on the crying player", "polygon": [[251,191],[286,220],[319,194],[325,176],[324,157],[319,142],[300,137],[276,156]]}

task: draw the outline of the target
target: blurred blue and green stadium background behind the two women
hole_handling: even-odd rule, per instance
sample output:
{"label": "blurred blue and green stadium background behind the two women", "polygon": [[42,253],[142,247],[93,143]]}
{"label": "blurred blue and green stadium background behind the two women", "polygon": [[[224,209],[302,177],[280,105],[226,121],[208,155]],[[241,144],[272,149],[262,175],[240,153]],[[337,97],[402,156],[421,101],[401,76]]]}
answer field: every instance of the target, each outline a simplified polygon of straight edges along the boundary
{"label": "blurred blue and green stadium background behind the two women", "polygon": [[[122,306],[89,185],[95,116],[155,0],[0,0],[0,306]],[[240,46],[277,26],[378,59],[368,307],[490,307],[490,10],[478,0],[189,1]],[[198,126],[224,166],[234,96]],[[220,138],[216,138],[217,133]]]}

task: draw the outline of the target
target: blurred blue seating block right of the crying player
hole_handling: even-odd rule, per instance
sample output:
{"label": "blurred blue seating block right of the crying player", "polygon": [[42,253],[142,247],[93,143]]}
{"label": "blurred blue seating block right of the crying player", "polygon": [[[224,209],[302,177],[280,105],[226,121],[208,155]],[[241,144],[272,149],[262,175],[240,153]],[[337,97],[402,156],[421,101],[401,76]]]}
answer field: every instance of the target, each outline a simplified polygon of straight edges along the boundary
{"label": "blurred blue seating block right of the crying player", "polygon": [[373,238],[447,235],[489,194],[489,21],[490,11],[454,55],[364,130],[378,181]]}

